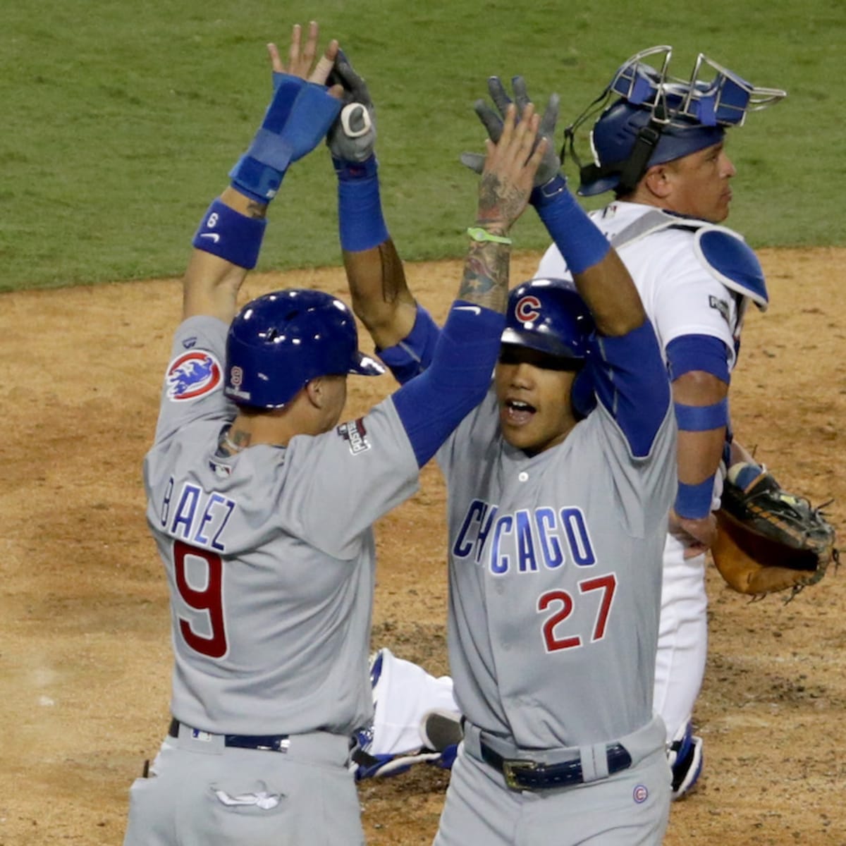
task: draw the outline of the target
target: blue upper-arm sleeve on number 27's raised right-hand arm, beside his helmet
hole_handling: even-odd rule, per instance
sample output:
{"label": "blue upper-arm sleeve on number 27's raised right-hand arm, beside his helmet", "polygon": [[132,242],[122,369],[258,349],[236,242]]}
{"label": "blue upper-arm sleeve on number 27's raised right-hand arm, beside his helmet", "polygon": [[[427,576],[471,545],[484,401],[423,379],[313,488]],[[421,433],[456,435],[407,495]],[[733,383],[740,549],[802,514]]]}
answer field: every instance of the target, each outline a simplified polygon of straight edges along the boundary
{"label": "blue upper-arm sleeve on number 27's raised right-hand arm, beside his helmet", "polygon": [[670,404],[670,381],[650,321],[617,338],[597,338],[596,396],[617,420],[632,454],[648,455]]}

